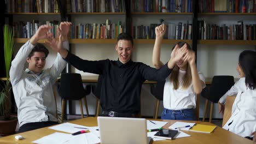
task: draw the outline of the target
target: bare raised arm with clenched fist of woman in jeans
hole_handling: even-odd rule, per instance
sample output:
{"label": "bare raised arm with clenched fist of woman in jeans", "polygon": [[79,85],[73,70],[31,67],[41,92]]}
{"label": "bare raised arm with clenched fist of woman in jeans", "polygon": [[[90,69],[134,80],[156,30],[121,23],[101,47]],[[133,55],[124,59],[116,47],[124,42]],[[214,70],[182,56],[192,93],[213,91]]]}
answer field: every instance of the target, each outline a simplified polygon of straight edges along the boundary
{"label": "bare raised arm with clenched fist of woman in jeans", "polygon": [[166,26],[165,24],[162,24],[155,28],[155,45],[153,49],[153,56],[152,56],[152,63],[155,66],[156,69],[160,69],[162,65],[164,65],[160,61],[160,54],[161,54],[161,43],[162,39],[166,32]]}

